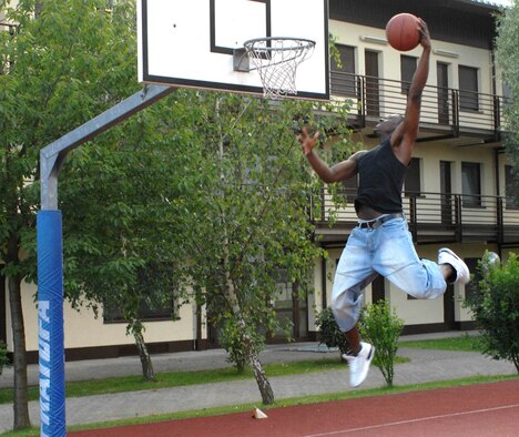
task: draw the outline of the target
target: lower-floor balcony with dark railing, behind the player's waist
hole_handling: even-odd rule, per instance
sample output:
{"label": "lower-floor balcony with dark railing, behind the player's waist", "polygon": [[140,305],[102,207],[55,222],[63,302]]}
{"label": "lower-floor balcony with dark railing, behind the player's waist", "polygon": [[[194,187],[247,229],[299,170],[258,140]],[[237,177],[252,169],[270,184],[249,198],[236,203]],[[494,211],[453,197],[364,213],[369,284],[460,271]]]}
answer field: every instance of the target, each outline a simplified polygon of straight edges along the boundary
{"label": "lower-floor balcony with dark railing, behind the player's waist", "polygon": [[[339,193],[347,196],[347,193]],[[324,207],[313,216],[316,235],[324,244],[346,241],[357,224],[353,197],[335,211],[332,196],[320,190]],[[352,199],[352,201],[349,201]],[[519,244],[519,207],[511,199],[490,195],[410,193],[404,197],[404,213],[415,243],[486,242],[501,246]],[[334,225],[329,223],[334,216]]]}

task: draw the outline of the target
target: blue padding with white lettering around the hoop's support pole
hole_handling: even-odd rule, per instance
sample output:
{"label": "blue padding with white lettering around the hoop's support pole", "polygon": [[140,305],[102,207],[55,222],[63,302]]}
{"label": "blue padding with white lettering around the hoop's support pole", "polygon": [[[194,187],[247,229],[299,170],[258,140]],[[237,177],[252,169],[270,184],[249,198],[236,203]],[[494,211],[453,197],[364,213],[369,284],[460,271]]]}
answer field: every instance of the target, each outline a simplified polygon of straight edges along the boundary
{"label": "blue padding with white lettering around the hoop's support pole", "polygon": [[40,430],[41,436],[65,436],[61,211],[39,211],[37,233]]}

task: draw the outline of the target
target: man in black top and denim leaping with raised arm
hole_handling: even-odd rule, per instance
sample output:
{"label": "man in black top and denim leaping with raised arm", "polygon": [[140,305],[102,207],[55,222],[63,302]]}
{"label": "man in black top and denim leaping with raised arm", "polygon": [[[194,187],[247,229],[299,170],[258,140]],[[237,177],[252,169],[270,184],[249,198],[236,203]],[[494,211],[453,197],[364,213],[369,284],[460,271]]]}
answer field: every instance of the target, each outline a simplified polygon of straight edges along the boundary
{"label": "man in black top and denim leaping with raised arm", "polygon": [[307,129],[297,139],[309,164],[326,182],[339,182],[358,174],[355,200],[358,225],[352,231],[337,266],[332,292],[332,309],[349,343],[344,355],[349,364],[349,384],[360,385],[367,376],[375,348],[362,342],[357,321],[363,291],[377,275],[416,298],[441,296],[447,283],[469,282],[467,265],[450,250],[440,248],[438,263],[420,260],[413,245],[403,213],[401,187],[418,133],[421,92],[429,72],[430,38],[427,24],[419,19],[423,53],[407,98],[405,115],[390,115],[375,126],[380,144],[370,151],[328,166],[314,152],[319,133]]}

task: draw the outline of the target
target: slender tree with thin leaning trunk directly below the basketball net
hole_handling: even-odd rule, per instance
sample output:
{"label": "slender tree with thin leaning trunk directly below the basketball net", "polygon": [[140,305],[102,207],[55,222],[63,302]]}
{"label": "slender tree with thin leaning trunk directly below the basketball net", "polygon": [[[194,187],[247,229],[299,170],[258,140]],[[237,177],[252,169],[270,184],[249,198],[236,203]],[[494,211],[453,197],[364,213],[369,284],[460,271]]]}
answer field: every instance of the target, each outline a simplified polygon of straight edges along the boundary
{"label": "slender tree with thin leaning trunk directly below the basketball net", "polygon": [[258,354],[265,335],[279,327],[276,277],[283,268],[306,292],[309,268],[320,254],[308,221],[308,200],[317,182],[291,125],[303,114],[323,128],[324,136],[344,133],[345,111],[337,106],[316,120],[309,103],[272,105],[224,93],[183,95],[175,111],[197,120],[189,129],[201,153],[194,171],[204,175],[192,193],[202,200],[200,207],[191,210],[184,223],[192,261],[187,276],[197,304],[206,305],[210,322],[222,327],[222,335],[233,336],[224,344],[252,365],[263,403],[272,404],[274,393]]}

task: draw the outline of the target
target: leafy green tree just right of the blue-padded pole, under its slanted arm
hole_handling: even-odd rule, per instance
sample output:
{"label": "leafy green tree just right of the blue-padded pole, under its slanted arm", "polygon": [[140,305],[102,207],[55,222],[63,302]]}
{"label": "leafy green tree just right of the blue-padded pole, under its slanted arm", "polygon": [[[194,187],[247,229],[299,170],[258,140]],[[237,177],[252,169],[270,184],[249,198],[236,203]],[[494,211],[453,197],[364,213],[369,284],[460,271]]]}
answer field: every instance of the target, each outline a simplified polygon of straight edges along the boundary
{"label": "leafy green tree just right of the blue-padded pole, under its slanted arm", "polygon": [[[142,308],[175,314],[182,287],[182,214],[189,175],[157,104],[72,154],[62,171],[64,288],[72,305],[128,322],[143,376],[154,379]],[[181,209],[181,210],[180,210]]]}

